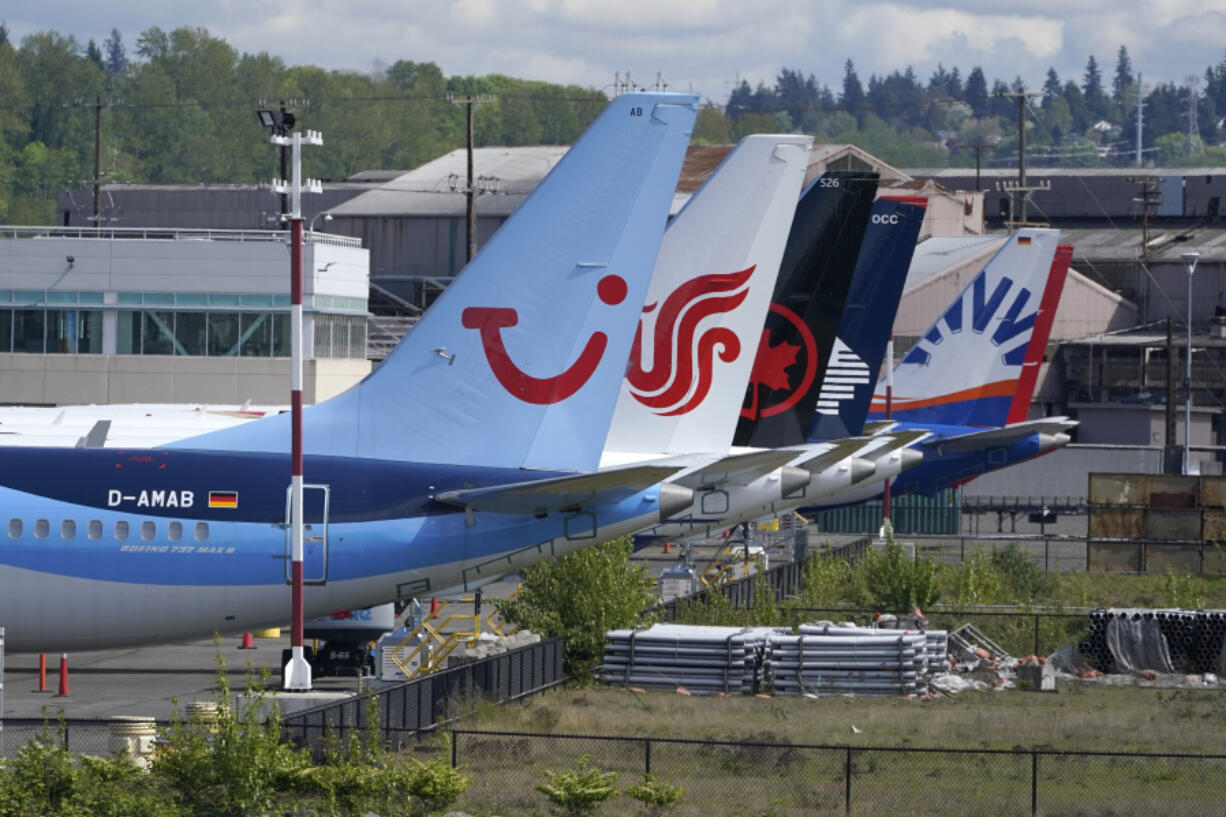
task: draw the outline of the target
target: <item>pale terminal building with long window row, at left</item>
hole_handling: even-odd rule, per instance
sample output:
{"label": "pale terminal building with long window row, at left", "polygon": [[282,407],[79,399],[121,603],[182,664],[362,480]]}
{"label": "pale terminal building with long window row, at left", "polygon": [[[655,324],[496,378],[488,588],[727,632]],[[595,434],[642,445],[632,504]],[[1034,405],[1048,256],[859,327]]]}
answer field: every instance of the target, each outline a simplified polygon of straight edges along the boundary
{"label": "pale terminal building with long window row, at left", "polygon": [[[306,232],[303,397],[370,370],[369,255]],[[0,228],[0,404],[288,402],[288,233]]]}

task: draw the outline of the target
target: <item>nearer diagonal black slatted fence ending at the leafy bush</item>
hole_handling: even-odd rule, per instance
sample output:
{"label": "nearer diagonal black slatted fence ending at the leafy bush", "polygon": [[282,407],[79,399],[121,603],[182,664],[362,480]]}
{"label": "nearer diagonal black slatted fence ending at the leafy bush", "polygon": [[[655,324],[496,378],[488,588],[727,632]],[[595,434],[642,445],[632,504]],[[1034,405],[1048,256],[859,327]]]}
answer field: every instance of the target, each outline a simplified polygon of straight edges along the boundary
{"label": "nearer diagonal black slatted fence ending at the leafy bush", "polygon": [[[376,727],[389,745],[398,747],[416,735],[455,720],[477,699],[503,703],[560,685],[563,639],[552,638],[499,653],[364,696],[304,709],[287,715],[286,737],[319,750],[329,736],[343,740],[354,730]],[[373,705],[374,704],[374,705]]]}

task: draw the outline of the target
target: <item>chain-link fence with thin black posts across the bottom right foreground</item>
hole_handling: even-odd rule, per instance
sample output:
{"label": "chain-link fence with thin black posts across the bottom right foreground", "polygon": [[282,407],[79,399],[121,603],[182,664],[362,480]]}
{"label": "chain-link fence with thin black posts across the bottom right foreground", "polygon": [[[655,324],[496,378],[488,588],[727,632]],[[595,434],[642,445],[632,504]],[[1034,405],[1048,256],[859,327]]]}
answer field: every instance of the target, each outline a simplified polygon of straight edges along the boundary
{"label": "chain-link fence with thin black posts across the bottom right foreground", "polygon": [[[817,713],[817,710],[815,710]],[[819,714],[814,714],[819,718]],[[615,772],[604,813],[638,813],[626,788],[650,773],[684,789],[677,817],[1205,817],[1222,813],[1226,754],[920,748],[455,730],[472,774],[457,807],[544,813],[536,786],[580,758]]]}

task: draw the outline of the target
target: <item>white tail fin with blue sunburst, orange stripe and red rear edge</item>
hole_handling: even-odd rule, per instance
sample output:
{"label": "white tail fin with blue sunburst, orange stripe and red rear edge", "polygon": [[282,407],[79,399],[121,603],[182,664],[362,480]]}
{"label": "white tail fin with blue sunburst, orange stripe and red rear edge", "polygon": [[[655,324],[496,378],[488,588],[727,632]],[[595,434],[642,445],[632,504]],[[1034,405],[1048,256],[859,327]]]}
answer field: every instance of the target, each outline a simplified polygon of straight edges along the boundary
{"label": "white tail fin with blue sunburst, orange stripe and red rear edge", "polygon": [[[1025,420],[1072,258],[1072,249],[1057,251],[1058,242],[1058,229],[1009,236],[894,368],[891,420],[980,427]],[[870,417],[884,410],[878,384]]]}

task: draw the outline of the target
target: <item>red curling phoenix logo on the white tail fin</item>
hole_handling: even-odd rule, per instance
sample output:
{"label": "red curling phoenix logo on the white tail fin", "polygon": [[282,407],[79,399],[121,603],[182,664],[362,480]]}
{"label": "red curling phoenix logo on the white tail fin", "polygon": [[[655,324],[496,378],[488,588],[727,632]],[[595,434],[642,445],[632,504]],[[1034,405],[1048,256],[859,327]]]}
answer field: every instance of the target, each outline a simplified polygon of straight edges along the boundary
{"label": "red curling phoenix logo on the white tail fin", "polygon": [[700,275],[673,290],[663,304],[642,308],[645,315],[657,307],[660,312],[650,332],[651,367],[642,366],[642,319],[630,348],[625,379],[635,400],[662,417],[684,415],[701,405],[711,390],[716,357],[725,363],[736,361],[741,340],[727,326],[700,332],[699,325],[744,303],[754,269]]}

